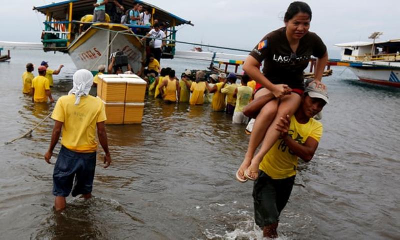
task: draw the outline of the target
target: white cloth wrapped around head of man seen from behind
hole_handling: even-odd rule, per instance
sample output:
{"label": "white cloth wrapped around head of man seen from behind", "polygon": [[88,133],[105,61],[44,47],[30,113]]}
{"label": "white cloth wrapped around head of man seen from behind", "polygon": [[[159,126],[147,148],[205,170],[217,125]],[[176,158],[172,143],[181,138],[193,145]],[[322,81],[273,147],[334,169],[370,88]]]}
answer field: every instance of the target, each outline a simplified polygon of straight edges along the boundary
{"label": "white cloth wrapped around head of man seen from behind", "polygon": [[68,95],[75,94],[75,105],[79,104],[80,96],[87,96],[93,84],[93,75],[86,69],[77,70],[73,76],[73,87]]}

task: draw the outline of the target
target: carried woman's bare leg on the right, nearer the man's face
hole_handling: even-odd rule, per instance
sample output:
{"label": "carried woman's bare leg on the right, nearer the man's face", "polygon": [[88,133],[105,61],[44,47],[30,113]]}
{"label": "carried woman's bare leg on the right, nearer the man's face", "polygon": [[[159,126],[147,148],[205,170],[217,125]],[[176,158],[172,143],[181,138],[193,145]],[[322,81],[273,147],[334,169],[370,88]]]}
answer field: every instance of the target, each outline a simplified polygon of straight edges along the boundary
{"label": "carried woman's bare leg on the right, nearer the man's face", "polygon": [[289,117],[291,117],[297,110],[298,106],[300,105],[300,101],[301,101],[301,96],[294,92],[291,93],[290,95],[282,96],[280,98],[280,103],[277,109],[277,113],[276,115],[274,115],[272,123],[268,125],[273,127],[267,127],[268,129],[266,130],[261,147],[257,152],[257,154],[255,154],[255,156],[251,159],[251,164],[248,167],[247,171],[249,177],[257,178],[259,163],[261,162],[264,155],[272,147],[273,143],[275,143],[275,141],[278,139],[279,131],[275,129],[275,125],[278,123],[279,118],[285,116],[286,114],[289,115]]}

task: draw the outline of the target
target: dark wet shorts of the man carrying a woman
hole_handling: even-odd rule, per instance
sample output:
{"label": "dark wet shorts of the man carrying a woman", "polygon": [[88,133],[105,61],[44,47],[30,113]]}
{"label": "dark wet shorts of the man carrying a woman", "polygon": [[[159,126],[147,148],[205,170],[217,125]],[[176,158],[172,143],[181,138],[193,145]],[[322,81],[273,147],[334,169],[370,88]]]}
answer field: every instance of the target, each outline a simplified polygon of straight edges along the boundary
{"label": "dark wet shorts of the man carrying a woman", "polygon": [[259,170],[254,181],[253,202],[254,219],[259,227],[279,221],[279,215],[289,200],[294,184],[294,176],[283,179],[272,179]]}

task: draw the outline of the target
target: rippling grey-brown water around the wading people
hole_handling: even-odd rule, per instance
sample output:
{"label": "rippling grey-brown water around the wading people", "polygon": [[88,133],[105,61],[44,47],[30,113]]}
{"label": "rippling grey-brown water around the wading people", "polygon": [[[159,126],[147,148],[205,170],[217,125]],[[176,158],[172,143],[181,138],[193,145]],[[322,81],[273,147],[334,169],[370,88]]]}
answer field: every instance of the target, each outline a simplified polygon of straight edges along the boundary
{"label": "rippling grey-brown water around the wading people", "polygon": [[[65,64],[55,76],[55,98],[71,87],[75,68],[67,56],[11,52],[0,63],[0,139],[8,141],[53,108],[20,93],[25,61]],[[175,68],[207,62],[162,60]],[[349,70],[324,78],[330,104],[324,135],[308,164],[300,163],[282,212],[281,239],[398,239],[400,234],[400,91],[360,83]],[[35,69],[36,75],[36,69]],[[54,214],[52,168],[42,160],[52,120],[31,136],[0,146],[0,232],[4,239],[260,239],[254,226],[252,184],[234,171],[248,136],[209,105],[165,105],[146,99],[141,125],[107,125],[113,164],[94,179],[94,198],[68,197]],[[57,145],[54,152],[58,152]],[[56,156],[52,160],[55,161]]]}

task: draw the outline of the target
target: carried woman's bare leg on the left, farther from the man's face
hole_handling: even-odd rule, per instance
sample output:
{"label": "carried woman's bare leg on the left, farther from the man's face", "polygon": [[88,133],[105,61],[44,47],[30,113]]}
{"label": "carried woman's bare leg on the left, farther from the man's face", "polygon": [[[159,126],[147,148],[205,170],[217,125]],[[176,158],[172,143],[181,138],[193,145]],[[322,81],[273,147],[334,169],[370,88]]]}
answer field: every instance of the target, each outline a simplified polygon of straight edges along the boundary
{"label": "carried woman's bare leg on the left, farther from the man's face", "polygon": [[[255,95],[254,99],[268,94],[269,90],[266,88],[262,88],[258,90]],[[278,107],[278,100],[274,99],[267,102],[258,113],[257,117],[255,118],[253,129],[251,130],[250,140],[248,141],[247,151],[244,155],[243,162],[239,166],[237,175],[245,179],[244,171],[251,163],[251,158],[253,158],[255,149],[258,147],[261,140],[264,138],[266,129],[271,124],[272,120],[275,118],[275,114]]]}

